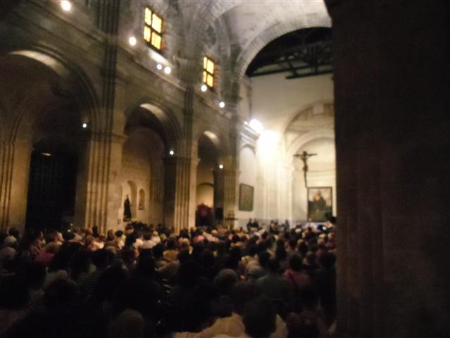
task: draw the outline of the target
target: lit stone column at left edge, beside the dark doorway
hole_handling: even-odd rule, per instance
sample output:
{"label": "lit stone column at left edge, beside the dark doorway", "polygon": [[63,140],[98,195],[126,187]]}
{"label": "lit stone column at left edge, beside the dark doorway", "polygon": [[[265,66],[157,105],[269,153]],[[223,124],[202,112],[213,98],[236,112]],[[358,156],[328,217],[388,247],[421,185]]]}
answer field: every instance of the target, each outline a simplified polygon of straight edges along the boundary
{"label": "lit stone column at left edge, beside the dark doorway", "polygon": [[31,151],[27,142],[0,142],[0,230],[25,229]]}

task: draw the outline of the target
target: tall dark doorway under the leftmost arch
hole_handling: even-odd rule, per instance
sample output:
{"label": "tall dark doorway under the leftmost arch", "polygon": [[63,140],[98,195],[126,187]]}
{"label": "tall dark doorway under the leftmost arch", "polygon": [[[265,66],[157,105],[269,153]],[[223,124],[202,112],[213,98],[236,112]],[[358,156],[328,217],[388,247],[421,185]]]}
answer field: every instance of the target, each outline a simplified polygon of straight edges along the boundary
{"label": "tall dark doorway under the leftmost arch", "polygon": [[31,155],[26,227],[61,230],[73,221],[77,156],[35,149]]}

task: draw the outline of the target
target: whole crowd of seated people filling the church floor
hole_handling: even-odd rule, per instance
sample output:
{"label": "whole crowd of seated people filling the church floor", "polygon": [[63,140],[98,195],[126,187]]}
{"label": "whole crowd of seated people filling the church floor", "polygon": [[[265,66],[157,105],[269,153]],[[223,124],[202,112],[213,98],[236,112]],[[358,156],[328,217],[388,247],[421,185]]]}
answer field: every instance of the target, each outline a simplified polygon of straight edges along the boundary
{"label": "whole crowd of seated people filling the church floor", "polygon": [[325,338],[334,326],[334,227],[134,223],[10,229],[0,243],[0,337]]}

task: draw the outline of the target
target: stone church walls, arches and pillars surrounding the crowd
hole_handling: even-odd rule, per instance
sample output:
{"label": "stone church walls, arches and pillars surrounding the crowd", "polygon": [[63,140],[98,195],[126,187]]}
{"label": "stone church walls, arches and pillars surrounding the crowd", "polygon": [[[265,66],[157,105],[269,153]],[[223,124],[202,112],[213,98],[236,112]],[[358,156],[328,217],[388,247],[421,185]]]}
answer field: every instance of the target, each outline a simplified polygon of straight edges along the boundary
{"label": "stone church walls, arches and pillars surrounding the crowd", "polygon": [[[449,5],[385,2],[11,1],[0,228],[304,223],[322,188],[338,215],[338,332],[442,337]],[[142,38],[146,6],[163,19],[161,51]],[[332,74],[262,54],[330,27]],[[303,151],[316,154],[307,175]]]}

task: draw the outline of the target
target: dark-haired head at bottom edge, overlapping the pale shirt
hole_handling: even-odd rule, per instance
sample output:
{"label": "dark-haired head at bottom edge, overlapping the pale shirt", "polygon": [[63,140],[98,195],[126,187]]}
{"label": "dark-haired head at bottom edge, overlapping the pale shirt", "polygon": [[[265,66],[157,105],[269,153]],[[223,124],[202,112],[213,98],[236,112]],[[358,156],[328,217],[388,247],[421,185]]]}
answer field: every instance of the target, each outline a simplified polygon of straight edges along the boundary
{"label": "dark-haired head at bottom edge, overlapping the pale shirt", "polygon": [[252,338],[268,338],[275,332],[277,313],[266,296],[258,296],[246,303],[242,321],[245,333]]}

